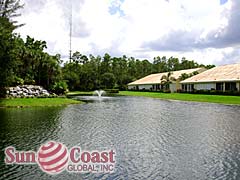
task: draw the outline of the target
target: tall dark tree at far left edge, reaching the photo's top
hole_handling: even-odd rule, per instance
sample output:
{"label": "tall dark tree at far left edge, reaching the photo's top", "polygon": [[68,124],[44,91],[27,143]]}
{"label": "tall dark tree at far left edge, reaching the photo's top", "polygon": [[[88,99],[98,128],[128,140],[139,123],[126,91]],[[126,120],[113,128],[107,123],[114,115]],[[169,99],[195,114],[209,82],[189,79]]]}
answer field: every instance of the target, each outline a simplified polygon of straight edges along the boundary
{"label": "tall dark tree at far left edge, reaching the photo's top", "polygon": [[0,96],[5,96],[5,87],[14,79],[16,61],[13,57],[15,49],[15,35],[13,30],[18,26],[16,21],[10,21],[19,16],[17,10],[22,8],[19,1],[0,0]]}

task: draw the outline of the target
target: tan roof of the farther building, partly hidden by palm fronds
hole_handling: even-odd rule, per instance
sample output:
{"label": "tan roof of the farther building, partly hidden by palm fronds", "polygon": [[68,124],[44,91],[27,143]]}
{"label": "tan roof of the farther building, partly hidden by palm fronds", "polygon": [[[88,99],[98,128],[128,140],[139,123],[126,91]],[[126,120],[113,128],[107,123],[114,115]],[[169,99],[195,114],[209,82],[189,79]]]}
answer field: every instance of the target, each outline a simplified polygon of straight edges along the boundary
{"label": "tan roof of the farther building, partly hidden by palm fronds", "polygon": [[[178,79],[182,74],[190,74],[195,71],[202,72],[204,71],[204,68],[194,68],[194,69],[186,69],[186,70],[180,70],[180,71],[172,71],[171,77]],[[141,79],[138,79],[134,82],[129,83],[128,85],[140,85],[140,84],[160,84],[161,78],[163,75],[167,76],[168,72],[165,73],[157,73],[157,74],[150,74],[146,77],[143,77]]]}

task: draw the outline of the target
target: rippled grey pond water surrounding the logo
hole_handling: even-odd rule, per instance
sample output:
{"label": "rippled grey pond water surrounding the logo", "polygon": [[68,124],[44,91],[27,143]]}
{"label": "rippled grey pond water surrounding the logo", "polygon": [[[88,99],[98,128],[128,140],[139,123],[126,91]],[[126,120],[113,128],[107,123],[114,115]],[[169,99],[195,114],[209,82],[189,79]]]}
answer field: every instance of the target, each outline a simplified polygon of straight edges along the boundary
{"label": "rippled grey pond water surrounding the logo", "polygon": [[[113,97],[0,109],[0,140],[0,179],[240,179],[240,106]],[[5,165],[7,146],[37,151],[49,140],[114,148],[115,172],[51,176],[38,165]]]}

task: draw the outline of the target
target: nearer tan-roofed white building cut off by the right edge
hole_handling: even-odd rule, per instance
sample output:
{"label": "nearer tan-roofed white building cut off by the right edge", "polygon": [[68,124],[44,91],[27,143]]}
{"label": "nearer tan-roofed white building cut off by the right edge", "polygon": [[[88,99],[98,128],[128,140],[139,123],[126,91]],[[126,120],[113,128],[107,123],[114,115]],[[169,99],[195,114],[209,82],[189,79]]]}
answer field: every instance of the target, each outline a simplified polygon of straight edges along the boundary
{"label": "nearer tan-roofed white building cut off by the right edge", "polygon": [[214,67],[181,82],[182,90],[240,91],[240,64]]}

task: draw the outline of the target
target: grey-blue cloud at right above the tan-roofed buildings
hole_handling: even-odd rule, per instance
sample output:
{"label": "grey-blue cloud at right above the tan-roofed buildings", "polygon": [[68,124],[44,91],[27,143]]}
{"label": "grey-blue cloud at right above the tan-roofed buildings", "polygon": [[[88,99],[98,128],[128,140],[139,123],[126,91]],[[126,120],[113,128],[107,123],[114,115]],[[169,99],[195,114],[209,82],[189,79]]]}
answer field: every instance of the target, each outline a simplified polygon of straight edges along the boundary
{"label": "grey-blue cloud at right above the tan-roofed buildings", "polygon": [[[159,51],[192,51],[193,49],[238,47],[240,45],[240,1],[229,1],[199,27],[177,29],[142,47]],[[207,26],[212,22],[213,25]]]}

